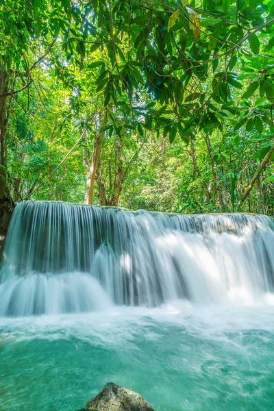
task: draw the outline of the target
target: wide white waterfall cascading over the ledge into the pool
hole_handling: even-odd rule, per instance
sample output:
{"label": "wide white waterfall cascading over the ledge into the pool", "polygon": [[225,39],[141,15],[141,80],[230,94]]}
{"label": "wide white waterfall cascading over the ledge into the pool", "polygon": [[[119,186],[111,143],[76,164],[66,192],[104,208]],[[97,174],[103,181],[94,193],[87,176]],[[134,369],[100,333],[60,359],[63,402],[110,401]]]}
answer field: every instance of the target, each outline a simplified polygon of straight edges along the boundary
{"label": "wide white waterfall cascading over the ledge into the pool", "polygon": [[51,201],[16,206],[0,315],[274,303],[274,223],[249,214],[130,212]]}

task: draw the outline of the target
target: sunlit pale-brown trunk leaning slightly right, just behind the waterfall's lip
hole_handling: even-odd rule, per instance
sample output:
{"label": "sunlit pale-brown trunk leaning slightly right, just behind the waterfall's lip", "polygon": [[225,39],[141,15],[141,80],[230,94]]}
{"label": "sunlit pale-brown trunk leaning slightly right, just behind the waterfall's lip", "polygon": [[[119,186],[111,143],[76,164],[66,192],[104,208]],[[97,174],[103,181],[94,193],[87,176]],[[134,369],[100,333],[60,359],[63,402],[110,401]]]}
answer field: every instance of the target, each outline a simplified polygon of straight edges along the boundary
{"label": "sunlit pale-brown trunk leaning slightly right, just behind the waterfall's lip", "polygon": [[[100,129],[105,127],[107,121],[106,113],[100,114]],[[84,203],[91,205],[93,202],[93,193],[95,186],[95,177],[97,173],[98,160],[101,153],[101,145],[103,140],[103,132],[98,132],[93,145],[90,164],[88,164],[88,177],[86,179],[86,196]]]}

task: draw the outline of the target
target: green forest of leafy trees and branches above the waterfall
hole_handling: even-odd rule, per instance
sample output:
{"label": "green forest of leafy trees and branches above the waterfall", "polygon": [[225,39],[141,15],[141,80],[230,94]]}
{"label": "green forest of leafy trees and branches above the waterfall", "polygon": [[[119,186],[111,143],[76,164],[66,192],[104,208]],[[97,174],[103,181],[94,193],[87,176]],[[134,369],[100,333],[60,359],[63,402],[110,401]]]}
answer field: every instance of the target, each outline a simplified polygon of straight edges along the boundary
{"label": "green forest of leafy trees and branches above the waterfall", "polygon": [[0,197],[274,207],[271,0],[5,0]]}

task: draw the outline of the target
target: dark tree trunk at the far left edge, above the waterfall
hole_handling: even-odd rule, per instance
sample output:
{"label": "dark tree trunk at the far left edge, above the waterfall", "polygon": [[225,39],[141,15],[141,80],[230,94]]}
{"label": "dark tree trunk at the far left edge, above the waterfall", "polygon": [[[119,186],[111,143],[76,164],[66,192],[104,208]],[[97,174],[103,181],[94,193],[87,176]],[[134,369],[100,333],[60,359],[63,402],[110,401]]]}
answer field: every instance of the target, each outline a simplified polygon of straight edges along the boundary
{"label": "dark tree trunk at the far left edge, above the waterfall", "polygon": [[[8,74],[0,67],[0,95],[8,92]],[[8,97],[0,97],[0,201],[6,197],[7,188],[7,128]]]}

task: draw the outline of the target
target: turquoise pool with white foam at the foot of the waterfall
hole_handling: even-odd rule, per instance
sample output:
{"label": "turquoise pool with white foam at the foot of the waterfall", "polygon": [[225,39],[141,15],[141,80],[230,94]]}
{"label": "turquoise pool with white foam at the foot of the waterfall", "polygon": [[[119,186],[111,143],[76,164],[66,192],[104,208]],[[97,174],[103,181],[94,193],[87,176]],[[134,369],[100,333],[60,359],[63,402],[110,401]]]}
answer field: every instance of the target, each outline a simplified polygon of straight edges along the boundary
{"label": "turquoise pool with white foam at the foot of the waterfall", "polygon": [[155,410],[273,410],[273,314],[177,302],[1,319],[0,410],[76,411],[106,382]]}

